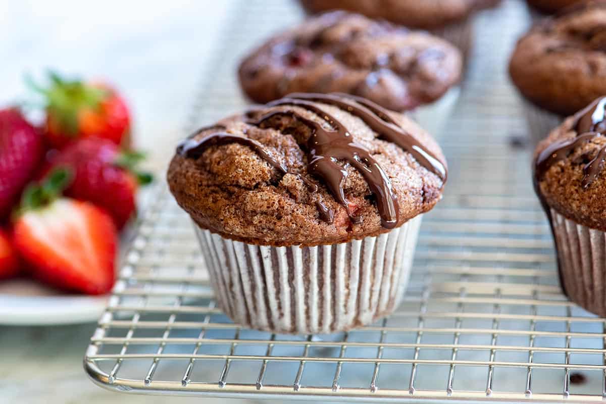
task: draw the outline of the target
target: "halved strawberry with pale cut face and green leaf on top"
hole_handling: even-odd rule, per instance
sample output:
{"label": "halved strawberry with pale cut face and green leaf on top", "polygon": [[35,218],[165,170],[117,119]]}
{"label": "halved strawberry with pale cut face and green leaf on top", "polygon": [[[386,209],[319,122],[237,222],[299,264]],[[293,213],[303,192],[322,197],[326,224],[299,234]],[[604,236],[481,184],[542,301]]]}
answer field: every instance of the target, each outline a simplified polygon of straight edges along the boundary
{"label": "halved strawberry with pale cut face and green leaf on top", "polygon": [[60,197],[68,171],[57,170],[23,194],[13,243],[33,275],[62,290],[111,290],[116,256],[112,218],[89,202]]}

